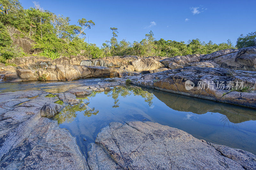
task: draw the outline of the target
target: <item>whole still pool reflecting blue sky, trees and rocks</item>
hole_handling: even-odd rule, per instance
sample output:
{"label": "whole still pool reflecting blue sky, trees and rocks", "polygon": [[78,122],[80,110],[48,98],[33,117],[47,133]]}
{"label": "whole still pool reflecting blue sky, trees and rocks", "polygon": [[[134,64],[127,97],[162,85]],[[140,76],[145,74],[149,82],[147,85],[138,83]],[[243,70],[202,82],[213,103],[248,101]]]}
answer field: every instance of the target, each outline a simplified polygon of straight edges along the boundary
{"label": "whole still pool reflecting blue sky, trees and rocks", "polygon": [[256,153],[255,110],[152,89],[143,90],[130,86],[128,89],[120,87],[94,93],[83,99],[88,107],[71,106],[75,108],[73,111],[69,108],[72,116],[66,111],[66,115],[61,112],[56,118],[61,128],[67,128],[76,137],[84,155],[101,128],[110,122],[135,120],[150,120],[181,129],[208,142]]}

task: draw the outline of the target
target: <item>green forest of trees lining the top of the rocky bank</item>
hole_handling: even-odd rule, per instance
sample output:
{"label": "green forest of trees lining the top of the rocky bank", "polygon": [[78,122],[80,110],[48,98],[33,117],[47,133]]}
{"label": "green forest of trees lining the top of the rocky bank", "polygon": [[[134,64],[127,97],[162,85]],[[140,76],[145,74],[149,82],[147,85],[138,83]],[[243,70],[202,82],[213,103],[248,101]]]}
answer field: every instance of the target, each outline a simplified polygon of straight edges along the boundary
{"label": "green forest of trees lining the top of the rocky bank", "polygon": [[[154,38],[150,31],[140,42],[118,41],[118,29],[111,27],[112,38],[102,46],[88,44],[84,41],[86,31],[97,26],[92,20],[78,19],[77,25],[70,24],[70,18],[56,15],[44,10],[37,2],[34,7],[24,9],[19,0],[0,0],[0,62],[20,56],[45,56],[52,59],[60,56],[84,55],[96,59],[115,55],[167,56],[187,54],[207,54],[221,49],[255,46],[256,32],[241,34],[236,46],[228,39],[220,44],[211,40],[206,43],[199,39],[184,41]],[[17,33],[21,32],[21,33]],[[33,52],[24,53],[23,49],[13,43],[14,39],[28,37],[36,43]]]}

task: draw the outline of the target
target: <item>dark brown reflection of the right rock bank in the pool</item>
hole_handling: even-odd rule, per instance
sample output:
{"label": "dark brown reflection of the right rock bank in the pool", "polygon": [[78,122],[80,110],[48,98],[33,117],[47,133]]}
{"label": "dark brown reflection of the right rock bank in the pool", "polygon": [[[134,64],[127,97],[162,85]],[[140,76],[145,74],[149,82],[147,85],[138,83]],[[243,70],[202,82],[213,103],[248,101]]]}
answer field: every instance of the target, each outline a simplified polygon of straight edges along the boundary
{"label": "dark brown reflection of the right rock bank in the pool", "polygon": [[241,108],[239,106],[225,103],[216,104],[210,100],[192,98],[190,96],[171,94],[146,88],[142,89],[149,93],[153,93],[159,100],[164,102],[164,104],[173,110],[193,112],[196,114],[204,114],[207,112],[220,113],[226,115],[228,117],[227,121],[232,123],[256,120],[254,109]]}

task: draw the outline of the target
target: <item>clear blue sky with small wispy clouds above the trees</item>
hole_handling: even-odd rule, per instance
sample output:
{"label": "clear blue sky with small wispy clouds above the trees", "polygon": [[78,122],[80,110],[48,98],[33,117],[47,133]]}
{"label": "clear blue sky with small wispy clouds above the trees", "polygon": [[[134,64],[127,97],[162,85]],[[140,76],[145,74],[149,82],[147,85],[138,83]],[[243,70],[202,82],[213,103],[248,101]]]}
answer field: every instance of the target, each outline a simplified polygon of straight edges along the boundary
{"label": "clear blue sky with small wispy clouds above the trees", "polygon": [[[25,9],[34,0],[20,0]],[[86,30],[86,41],[101,46],[111,38],[110,27],[118,28],[118,40],[140,41],[152,30],[158,40],[200,39],[214,43],[230,39],[236,45],[240,34],[256,31],[255,0],[251,1],[97,1],[36,0],[44,10],[62,14],[77,24],[92,19],[95,27]]]}

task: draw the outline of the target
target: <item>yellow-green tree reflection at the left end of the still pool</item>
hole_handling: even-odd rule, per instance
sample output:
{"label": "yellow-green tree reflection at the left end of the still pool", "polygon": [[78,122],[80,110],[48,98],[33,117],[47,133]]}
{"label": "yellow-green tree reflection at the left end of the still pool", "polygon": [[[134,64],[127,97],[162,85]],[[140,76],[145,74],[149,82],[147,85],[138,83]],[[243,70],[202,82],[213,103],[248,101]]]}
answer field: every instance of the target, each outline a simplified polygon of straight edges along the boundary
{"label": "yellow-green tree reflection at the left end of the still pool", "polygon": [[55,119],[58,121],[59,124],[62,124],[64,122],[70,123],[72,122],[76,116],[77,112],[84,111],[84,116],[90,117],[92,115],[97,115],[99,113],[99,110],[95,110],[95,108],[90,108],[89,105],[89,98],[88,97],[94,97],[96,96],[97,92],[93,92],[91,95],[78,98],[80,99],[80,102],[74,105],[64,104],[64,109],[61,110],[61,112],[55,116]]}

